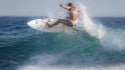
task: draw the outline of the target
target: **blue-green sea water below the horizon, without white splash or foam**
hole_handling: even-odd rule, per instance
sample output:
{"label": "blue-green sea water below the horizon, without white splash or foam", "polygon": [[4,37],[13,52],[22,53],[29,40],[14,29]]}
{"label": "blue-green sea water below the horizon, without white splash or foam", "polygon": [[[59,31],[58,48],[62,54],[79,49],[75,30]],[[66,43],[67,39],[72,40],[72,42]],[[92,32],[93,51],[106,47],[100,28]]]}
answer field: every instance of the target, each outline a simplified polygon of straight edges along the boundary
{"label": "blue-green sea water below the horizon, without white splash or foam", "polygon": [[[119,45],[106,46],[87,30],[74,30],[71,34],[41,32],[27,25],[35,18],[44,17],[0,17],[0,70],[18,70],[25,65],[92,67],[125,64],[124,44],[116,50],[114,48]],[[125,18],[91,19],[109,30],[121,30],[121,34],[125,30]]]}

